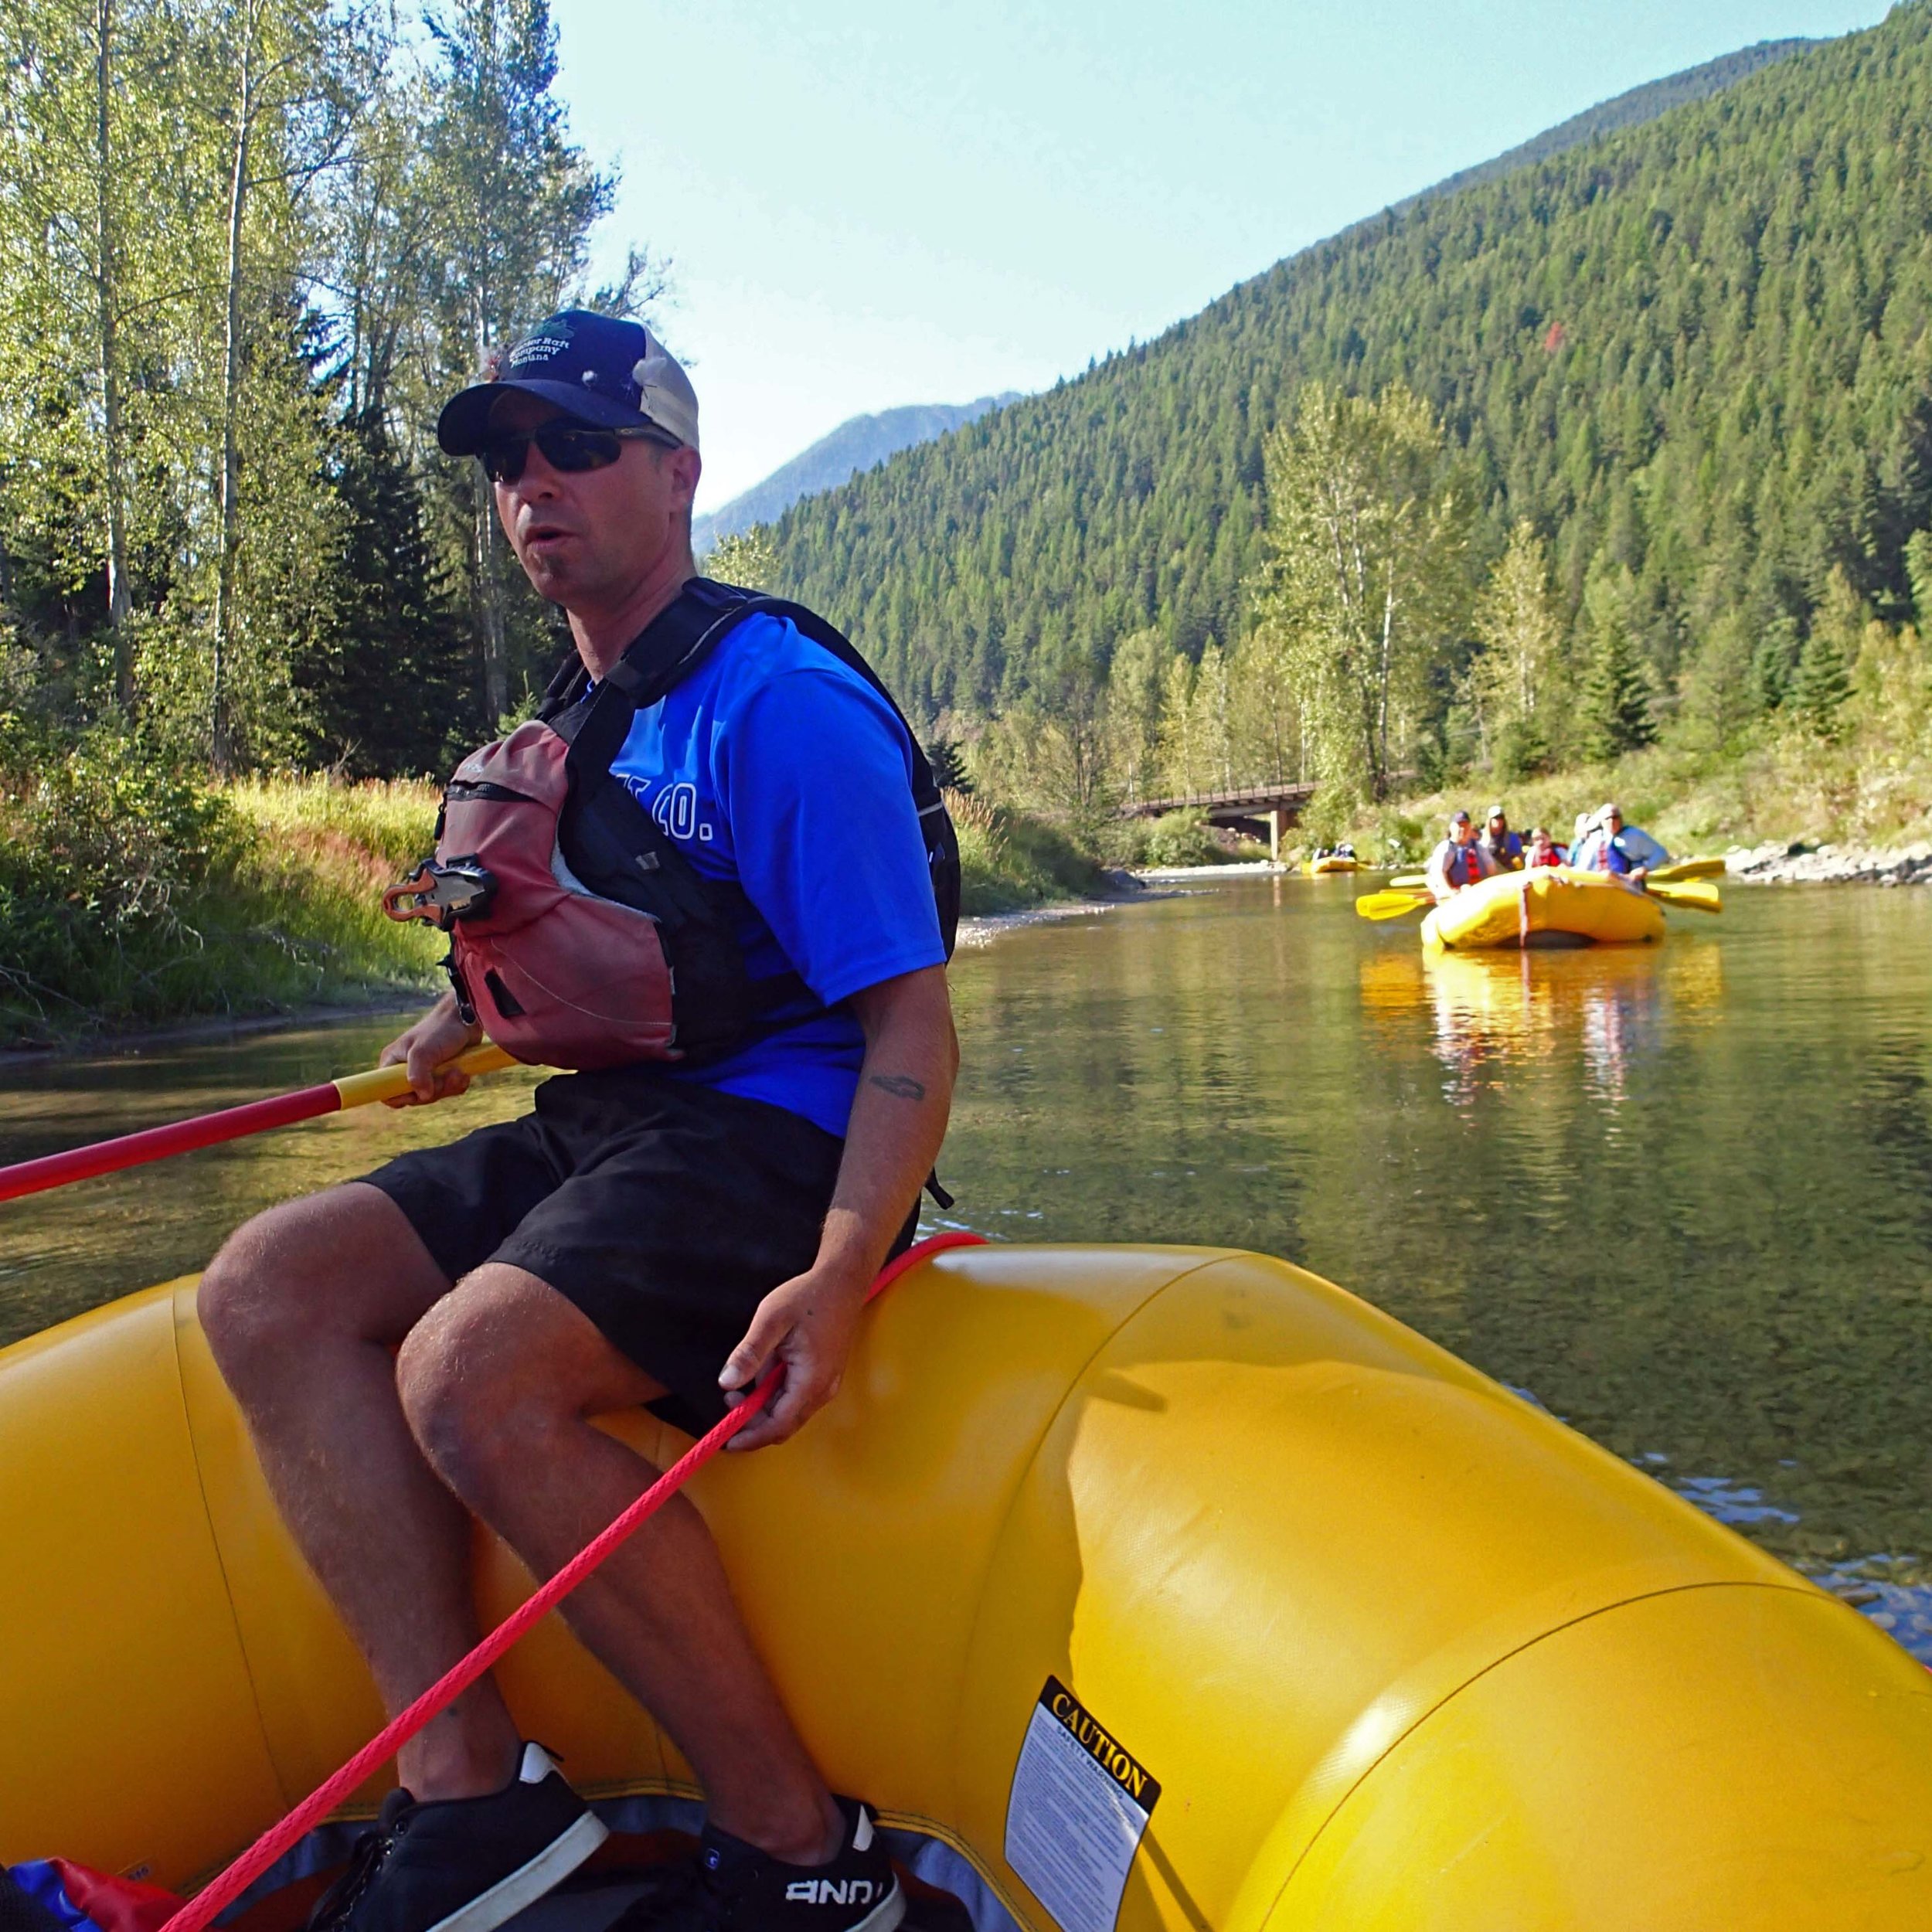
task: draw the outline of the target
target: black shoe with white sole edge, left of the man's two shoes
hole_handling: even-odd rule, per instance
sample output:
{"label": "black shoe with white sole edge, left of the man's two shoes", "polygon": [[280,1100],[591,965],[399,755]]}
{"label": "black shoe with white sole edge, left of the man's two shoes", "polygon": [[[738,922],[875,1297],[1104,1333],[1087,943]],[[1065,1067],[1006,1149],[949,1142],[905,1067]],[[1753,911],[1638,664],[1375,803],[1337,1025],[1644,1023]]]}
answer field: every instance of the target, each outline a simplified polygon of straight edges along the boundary
{"label": "black shoe with white sole edge, left of the man's two shoes", "polygon": [[483,1799],[383,1799],[375,1830],[309,1915],[309,1932],[495,1932],[607,1837],[541,1745]]}

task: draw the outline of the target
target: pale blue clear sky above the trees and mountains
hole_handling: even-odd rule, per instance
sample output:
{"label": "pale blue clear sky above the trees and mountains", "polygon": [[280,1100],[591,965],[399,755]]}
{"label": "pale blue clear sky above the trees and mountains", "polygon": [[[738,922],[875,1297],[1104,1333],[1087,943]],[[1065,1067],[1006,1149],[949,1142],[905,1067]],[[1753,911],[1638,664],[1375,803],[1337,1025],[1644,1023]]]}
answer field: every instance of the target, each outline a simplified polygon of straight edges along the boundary
{"label": "pale blue clear sky above the trees and mountains", "polygon": [[553,0],[601,247],[672,259],[715,508],[1045,388],[1596,100],[1882,0]]}

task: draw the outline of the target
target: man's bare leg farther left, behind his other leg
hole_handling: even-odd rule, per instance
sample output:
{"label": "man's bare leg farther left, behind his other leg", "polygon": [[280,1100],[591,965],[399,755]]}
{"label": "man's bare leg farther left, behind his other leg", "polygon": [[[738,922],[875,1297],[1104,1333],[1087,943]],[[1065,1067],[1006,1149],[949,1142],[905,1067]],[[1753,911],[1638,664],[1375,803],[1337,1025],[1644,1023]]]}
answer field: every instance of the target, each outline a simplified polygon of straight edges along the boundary
{"label": "man's bare leg farther left, behind his other leg", "polygon": [[[290,1534],[394,1716],[477,1640],[469,1519],[423,1459],[394,1349],[448,1294],[402,1209],[361,1182],[257,1215],[201,1277],[201,1325]],[[398,1756],[419,1799],[500,1789],[516,1725],[485,1677]]]}

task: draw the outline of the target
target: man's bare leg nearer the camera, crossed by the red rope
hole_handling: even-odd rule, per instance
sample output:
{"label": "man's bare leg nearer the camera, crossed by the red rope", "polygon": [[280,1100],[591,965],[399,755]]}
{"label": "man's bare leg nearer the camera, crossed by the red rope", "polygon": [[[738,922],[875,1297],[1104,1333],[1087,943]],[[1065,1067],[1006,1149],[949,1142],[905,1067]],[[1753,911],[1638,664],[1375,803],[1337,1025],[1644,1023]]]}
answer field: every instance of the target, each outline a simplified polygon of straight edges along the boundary
{"label": "man's bare leg nearer the camera, crossed by the red rope", "polygon": [[[485,1264],[410,1331],[402,1403],[444,1482],[549,1577],[657,1478],[589,1418],[665,1391],[535,1275]],[[672,1497],[562,1605],[690,1758],[721,1830],[819,1864],[842,1820],[730,1596],[703,1517]]]}

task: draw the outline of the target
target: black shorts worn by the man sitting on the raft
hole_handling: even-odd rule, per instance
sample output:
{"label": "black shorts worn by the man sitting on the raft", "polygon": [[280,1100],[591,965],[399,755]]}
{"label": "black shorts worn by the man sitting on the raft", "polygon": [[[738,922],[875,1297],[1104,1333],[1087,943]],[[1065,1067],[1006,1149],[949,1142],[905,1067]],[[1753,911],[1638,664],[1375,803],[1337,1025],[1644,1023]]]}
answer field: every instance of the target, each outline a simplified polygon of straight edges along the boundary
{"label": "black shorts worn by the man sitting on the raft", "polygon": [[[651,1066],[560,1074],[537,1111],[367,1175],[460,1281],[508,1262],[583,1310],[701,1434],[752,1312],[819,1252],[844,1142]],[[910,1223],[908,1223],[910,1235]]]}

